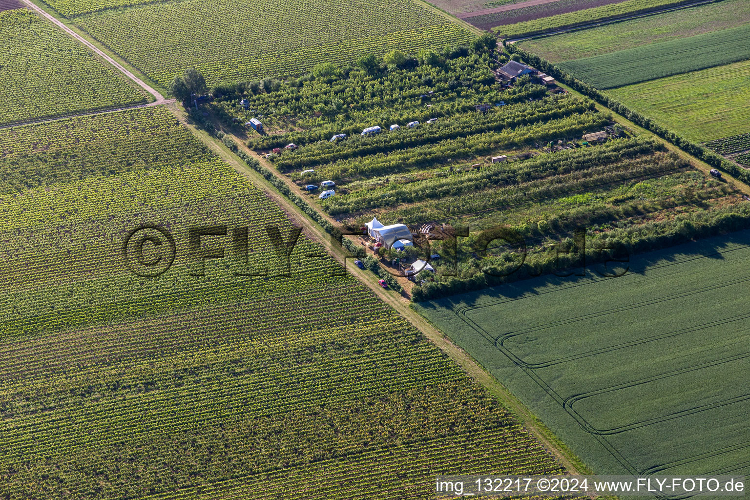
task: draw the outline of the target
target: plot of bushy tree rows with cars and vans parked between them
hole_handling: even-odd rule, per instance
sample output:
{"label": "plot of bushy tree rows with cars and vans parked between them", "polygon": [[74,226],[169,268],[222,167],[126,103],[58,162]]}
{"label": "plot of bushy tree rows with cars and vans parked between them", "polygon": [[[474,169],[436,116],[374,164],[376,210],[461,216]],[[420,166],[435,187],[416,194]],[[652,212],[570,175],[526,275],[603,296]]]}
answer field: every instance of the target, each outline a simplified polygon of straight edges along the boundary
{"label": "plot of bushy tree rows with cars and vans parked between them", "polygon": [[[353,231],[373,217],[415,231],[468,226],[459,249],[466,256],[477,252],[486,231],[510,226],[526,241],[523,272],[552,271],[557,245],[571,244],[580,228],[598,244],[645,251],[710,233],[734,217],[746,223],[750,205],[736,187],[694,170],[650,139],[621,133],[603,145],[583,145],[584,133],[613,123],[591,101],[548,94],[530,79],[502,88],[474,55],[444,64],[451,70],[422,64],[387,75],[352,71],[347,79],[244,94],[247,111],[239,96],[212,106],[227,126],[263,116],[269,133],[248,132],[248,145],[260,154],[299,146],[271,154],[273,166],[301,193],[306,184],[334,181],[332,198],[308,196]],[[458,80],[473,85],[452,83]],[[424,100],[429,91],[434,94]],[[474,105],[483,102],[504,105],[477,112]],[[428,124],[429,118],[437,121]],[[410,121],[421,124],[410,129]],[[382,133],[359,134],[376,124]],[[401,129],[389,131],[390,124]],[[331,142],[338,133],[347,138]],[[507,160],[492,163],[499,155]],[[449,251],[441,241],[431,245]],[[464,259],[458,277],[486,286],[484,269],[513,267],[516,252],[500,248]],[[445,261],[436,264],[440,283],[452,279],[451,259]],[[432,283],[416,288],[423,289],[419,297],[438,292]]]}

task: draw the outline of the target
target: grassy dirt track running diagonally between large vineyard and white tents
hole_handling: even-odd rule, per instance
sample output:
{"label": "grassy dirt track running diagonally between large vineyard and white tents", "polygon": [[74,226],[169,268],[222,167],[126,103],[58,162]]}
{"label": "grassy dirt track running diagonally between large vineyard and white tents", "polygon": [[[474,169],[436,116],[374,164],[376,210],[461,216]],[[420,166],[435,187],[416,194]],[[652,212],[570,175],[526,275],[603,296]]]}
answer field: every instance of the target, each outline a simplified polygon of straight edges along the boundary
{"label": "grassy dirt track running diagonally between large vineyard and white tents", "polygon": [[[210,136],[205,130],[200,130],[187,121],[186,113],[179,109],[176,104],[166,106],[186,127],[188,127],[201,142],[211,148],[220,158],[229,163],[246,178],[250,179],[253,184],[260,190],[263,190],[269,198],[278,203],[282,210],[287,213],[293,222],[302,223],[303,232],[312,241],[321,244],[338,262],[345,262],[347,251],[344,248],[335,247],[332,244],[331,235],[329,235],[318,223],[314,222],[308,214],[305,214],[301,208],[295,205],[287,196],[281,194],[263,175],[251,169],[236,154],[229,151],[219,139]],[[233,134],[230,134],[233,135]],[[234,136],[236,137],[236,136]],[[237,138],[239,139],[239,138]],[[240,142],[239,145],[244,145]],[[244,148],[243,148],[244,151]],[[254,158],[259,155],[254,154]],[[266,162],[263,162],[266,163]],[[275,170],[275,169],[274,169]],[[272,171],[273,172],[273,171]],[[276,174],[276,172],[274,172]],[[309,204],[308,204],[309,205]],[[316,208],[317,211],[317,208]],[[320,214],[320,211],[318,211]],[[397,313],[410,322],[414,328],[419,330],[431,343],[437,346],[441,352],[448,355],[456,364],[466,372],[474,382],[481,385],[490,395],[505,409],[508,409],[518,422],[531,434],[544,448],[550,451],[559,463],[571,474],[590,474],[591,470],[580,460],[561,439],[559,439],[543,422],[541,422],[520,400],[517,399],[509,390],[502,385],[493,375],[484,369],[478,362],[472,358],[469,353],[461,349],[452,342],[450,338],[434,326],[428,319],[425,319],[416,312],[410,303],[404,301],[401,295],[384,290],[377,284],[375,277],[370,271],[362,270],[353,265],[346,266],[347,271],[351,272],[360,283],[367,286],[377,298],[393,307]]]}

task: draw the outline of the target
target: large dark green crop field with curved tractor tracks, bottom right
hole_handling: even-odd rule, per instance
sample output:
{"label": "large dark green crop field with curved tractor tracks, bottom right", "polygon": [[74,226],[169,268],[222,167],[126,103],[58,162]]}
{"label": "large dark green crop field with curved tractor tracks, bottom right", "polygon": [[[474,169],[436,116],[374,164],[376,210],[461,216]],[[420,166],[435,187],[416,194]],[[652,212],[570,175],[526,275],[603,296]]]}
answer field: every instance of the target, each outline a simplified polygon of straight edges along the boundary
{"label": "large dark green crop field with curved tractor tracks, bottom right", "polygon": [[[595,472],[750,474],[750,232],[417,309]],[[622,269],[620,270],[622,271]]]}

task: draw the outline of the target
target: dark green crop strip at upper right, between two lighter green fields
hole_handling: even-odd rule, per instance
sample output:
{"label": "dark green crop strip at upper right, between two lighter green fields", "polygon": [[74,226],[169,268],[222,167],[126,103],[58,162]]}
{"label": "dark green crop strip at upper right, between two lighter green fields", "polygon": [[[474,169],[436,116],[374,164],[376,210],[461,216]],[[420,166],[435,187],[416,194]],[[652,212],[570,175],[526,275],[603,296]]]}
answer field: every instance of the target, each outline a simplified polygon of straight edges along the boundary
{"label": "dark green crop strip at upper right, between two lighter green fields", "polygon": [[596,88],[613,88],[745,59],[750,59],[750,23],[566,61],[559,66]]}

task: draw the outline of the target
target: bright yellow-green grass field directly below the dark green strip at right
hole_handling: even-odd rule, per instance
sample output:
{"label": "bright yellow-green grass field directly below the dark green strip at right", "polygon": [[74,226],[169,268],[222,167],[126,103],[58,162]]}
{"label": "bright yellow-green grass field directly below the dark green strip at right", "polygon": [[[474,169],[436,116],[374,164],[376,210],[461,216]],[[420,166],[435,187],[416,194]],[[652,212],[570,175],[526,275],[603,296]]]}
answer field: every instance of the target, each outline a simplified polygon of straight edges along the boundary
{"label": "bright yellow-green grass field directly below the dark green strip at right", "polygon": [[622,103],[694,141],[748,131],[750,61],[608,91]]}

